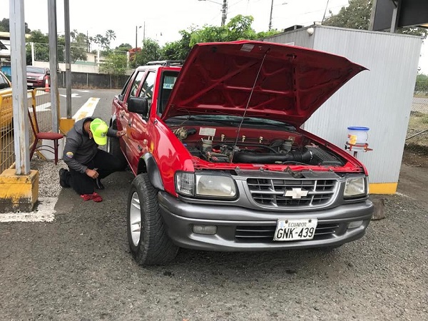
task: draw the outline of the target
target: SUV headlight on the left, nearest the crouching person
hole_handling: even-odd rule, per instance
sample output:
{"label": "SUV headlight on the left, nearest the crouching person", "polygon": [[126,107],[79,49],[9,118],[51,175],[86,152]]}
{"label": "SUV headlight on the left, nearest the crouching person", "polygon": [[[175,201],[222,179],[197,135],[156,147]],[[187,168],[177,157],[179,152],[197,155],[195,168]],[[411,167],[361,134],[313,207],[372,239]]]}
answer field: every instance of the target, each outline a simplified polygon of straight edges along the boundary
{"label": "SUV headlight on the left, nearest the crouching person", "polygon": [[175,173],[177,193],[208,198],[235,198],[236,185],[233,178],[225,175]]}

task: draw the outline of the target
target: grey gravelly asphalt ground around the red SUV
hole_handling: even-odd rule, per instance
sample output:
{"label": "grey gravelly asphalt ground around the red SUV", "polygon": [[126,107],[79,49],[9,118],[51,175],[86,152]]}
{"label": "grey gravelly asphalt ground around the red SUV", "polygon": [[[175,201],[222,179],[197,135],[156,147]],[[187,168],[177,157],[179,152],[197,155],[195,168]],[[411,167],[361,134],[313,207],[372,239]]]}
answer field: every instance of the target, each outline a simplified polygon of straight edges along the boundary
{"label": "grey gravelly asphalt ground around the red SUV", "polygon": [[143,268],[126,240],[131,173],[93,203],[61,190],[61,162],[31,165],[56,219],[0,223],[0,320],[428,320],[427,167],[404,164],[386,218],[337,250],[180,250]]}

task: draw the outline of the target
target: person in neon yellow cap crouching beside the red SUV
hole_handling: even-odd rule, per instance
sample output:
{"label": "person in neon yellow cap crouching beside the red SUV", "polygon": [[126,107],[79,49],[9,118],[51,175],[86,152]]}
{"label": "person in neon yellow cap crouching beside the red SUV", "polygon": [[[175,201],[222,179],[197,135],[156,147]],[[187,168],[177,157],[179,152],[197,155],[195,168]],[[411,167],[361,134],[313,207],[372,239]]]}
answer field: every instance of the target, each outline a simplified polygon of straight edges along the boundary
{"label": "person in neon yellow cap crouching beside the red SUV", "polygon": [[63,188],[72,187],[83,200],[103,200],[95,188],[103,190],[101,179],[123,169],[121,161],[98,148],[106,145],[107,136],[121,137],[126,131],[108,128],[100,118],[83,118],[76,121],[67,133],[63,161],[68,170],[59,170],[59,183]]}

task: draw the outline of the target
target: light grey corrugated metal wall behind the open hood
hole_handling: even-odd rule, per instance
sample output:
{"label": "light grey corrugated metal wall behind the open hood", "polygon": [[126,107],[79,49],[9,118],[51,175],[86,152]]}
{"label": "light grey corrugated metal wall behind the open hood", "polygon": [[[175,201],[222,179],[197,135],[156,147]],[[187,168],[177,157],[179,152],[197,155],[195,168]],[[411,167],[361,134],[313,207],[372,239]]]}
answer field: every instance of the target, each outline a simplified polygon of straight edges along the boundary
{"label": "light grey corrugated metal wall behind the open hood", "polygon": [[369,127],[373,151],[357,158],[367,166],[370,183],[397,183],[422,39],[324,26],[316,27],[314,36],[314,49],[345,56],[370,71],[340,88],[305,130],[343,148],[348,126]]}

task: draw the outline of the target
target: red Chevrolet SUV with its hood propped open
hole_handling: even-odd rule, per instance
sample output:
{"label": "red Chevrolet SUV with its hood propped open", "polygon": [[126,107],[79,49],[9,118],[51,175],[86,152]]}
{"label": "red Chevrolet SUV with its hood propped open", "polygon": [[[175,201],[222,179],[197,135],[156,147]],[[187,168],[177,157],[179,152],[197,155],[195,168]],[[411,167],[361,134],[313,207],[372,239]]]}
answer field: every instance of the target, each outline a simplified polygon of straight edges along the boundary
{"label": "red Chevrolet SUV with its hood propped open", "polygon": [[342,56],[261,41],[197,44],[183,66],[140,66],[113,98],[108,151],[136,175],[131,253],[164,264],[178,248],[336,248],[373,213],[368,173],[300,128],[366,68]]}

